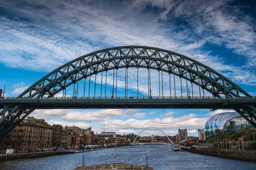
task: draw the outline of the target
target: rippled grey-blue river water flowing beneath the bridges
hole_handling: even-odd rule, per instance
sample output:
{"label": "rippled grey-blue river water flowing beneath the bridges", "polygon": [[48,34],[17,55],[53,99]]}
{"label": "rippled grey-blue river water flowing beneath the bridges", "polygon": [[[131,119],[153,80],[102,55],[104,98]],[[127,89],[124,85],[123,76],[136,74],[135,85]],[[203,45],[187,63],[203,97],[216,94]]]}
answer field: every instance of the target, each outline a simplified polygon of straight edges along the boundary
{"label": "rippled grey-blue river water flowing beneath the bridges", "polygon": [[[117,147],[117,162],[146,164],[154,170],[256,170],[256,164],[190,152],[174,152],[169,145],[137,145]],[[114,148],[0,162],[0,170],[73,170],[76,165],[114,162]]]}

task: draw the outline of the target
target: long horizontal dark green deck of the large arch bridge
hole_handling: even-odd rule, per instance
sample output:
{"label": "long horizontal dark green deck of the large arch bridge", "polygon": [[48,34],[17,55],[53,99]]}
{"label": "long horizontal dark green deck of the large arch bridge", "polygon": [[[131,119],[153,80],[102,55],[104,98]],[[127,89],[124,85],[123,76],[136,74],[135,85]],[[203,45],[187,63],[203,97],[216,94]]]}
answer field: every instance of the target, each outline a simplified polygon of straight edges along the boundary
{"label": "long horizontal dark green deck of the large arch bridge", "polygon": [[4,98],[4,105],[24,105],[34,109],[113,109],[113,108],[191,108],[191,109],[236,109],[246,105],[256,105],[256,98],[148,98],[148,97],[54,97],[54,98]]}

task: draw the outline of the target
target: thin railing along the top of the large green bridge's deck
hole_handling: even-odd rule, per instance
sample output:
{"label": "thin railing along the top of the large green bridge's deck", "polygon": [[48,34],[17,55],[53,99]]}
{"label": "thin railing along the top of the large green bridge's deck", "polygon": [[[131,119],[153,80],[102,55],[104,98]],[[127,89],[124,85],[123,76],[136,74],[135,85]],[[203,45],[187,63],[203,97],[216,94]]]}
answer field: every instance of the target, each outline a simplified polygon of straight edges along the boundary
{"label": "thin railing along the top of the large green bridge's deck", "polygon": [[[230,98],[254,98],[256,99],[256,96],[239,96],[239,97],[225,97],[225,96],[219,96],[219,97],[212,97],[212,96],[143,96],[143,97],[137,97],[137,96],[130,96],[130,97],[76,97],[76,96],[66,96],[66,97],[41,97],[40,99],[230,99]],[[38,99],[38,96],[35,97],[0,97],[0,99]]]}

